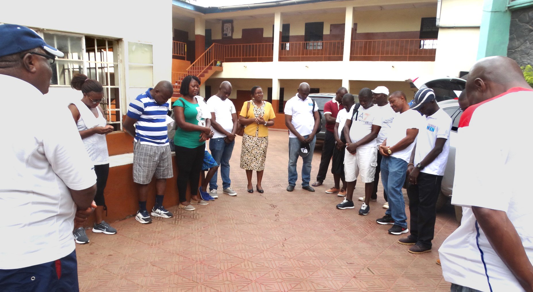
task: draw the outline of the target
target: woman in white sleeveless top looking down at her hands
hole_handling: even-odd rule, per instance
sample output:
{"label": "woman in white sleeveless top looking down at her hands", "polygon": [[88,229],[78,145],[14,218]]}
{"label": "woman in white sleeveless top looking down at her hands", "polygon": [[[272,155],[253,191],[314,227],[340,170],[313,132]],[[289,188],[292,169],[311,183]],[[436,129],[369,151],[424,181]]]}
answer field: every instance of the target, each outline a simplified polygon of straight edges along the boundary
{"label": "woman in white sleeveless top looking down at her hands", "polygon": [[[103,87],[100,82],[88,79],[83,74],[77,74],[72,77],[70,84],[72,88],[83,93],[83,98],[70,103],[69,109],[78,127],[79,135],[82,137],[85,150],[87,150],[89,157],[93,161],[94,172],[96,173],[96,196],[94,197],[96,221],[93,226],[93,232],[115,234],[117,230],[102,220],[103,211],[107,210],[103,190],[106,188],[109,174],[109,153],[107,151],[106,134],[114,131],[111,125],[107,125],[106,118],[103,117],[103,111],[100,107],[100,102],[103,99]],[[81,225],[76,224],[74,228],[73,233],[76,243],[86,244],[89,242],[85,229]]]}

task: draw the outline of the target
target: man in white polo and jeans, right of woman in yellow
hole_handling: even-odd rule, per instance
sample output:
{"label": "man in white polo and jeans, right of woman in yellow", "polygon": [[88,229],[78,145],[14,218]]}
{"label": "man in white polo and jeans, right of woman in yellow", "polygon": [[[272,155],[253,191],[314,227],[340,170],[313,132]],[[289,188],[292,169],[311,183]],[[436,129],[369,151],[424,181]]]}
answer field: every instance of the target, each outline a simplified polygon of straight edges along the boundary
{"label": "man in white polo and jeans, right of woman in yellow", "polygon": [[311,161],[313,160],[314,143],[320,117],[318,106],[308,97],[309,84],[303,82],[298,86],[298,93],[285,104],[285,126],[289,129],[289,185],[287,191],[292,192],[296,186],[298,172],[296,171],[296,161],[298,160],[298,150],[301,146],[309,146],[309,152],[302,158],[302,189],[314,192],[309,185],[311,180]]}

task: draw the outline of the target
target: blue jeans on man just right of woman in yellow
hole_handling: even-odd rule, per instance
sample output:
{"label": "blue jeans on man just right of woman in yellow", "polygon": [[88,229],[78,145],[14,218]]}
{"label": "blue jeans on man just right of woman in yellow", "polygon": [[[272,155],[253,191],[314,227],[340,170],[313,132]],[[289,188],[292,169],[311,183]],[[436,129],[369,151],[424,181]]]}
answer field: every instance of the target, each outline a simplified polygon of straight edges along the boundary
{"label": "blue jeans on man just right of woman in yellow", "polygon": [[[304,136],[306,139],[309,135]],[[309,143],[311,150],[309,155],[302,158],[302,186],[309,185],[311,180],[311,161],[313,161],[314,143],[317,142],[317,137],[313,137],[313,141]],[[298,179],[298,172],[296,171],[296,162],[298,161],[298,150],[300,150],[300,141],[298,138],[289,138],[289,185],[296,185]]]}

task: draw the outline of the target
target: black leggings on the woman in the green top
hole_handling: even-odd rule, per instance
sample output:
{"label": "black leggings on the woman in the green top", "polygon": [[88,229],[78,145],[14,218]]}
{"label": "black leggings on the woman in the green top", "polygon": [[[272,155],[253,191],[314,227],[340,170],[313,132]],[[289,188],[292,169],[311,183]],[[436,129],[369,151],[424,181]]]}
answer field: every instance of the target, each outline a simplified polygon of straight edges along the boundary
{"label": "black leggings on the woman in the green top", "polygon": [[177,191],[180,202],[187,201],[187,182],[191,186],[191,196],[198,193],[201,165],[204,163],[205,144],[196,148],[175,145],[177,166]]}

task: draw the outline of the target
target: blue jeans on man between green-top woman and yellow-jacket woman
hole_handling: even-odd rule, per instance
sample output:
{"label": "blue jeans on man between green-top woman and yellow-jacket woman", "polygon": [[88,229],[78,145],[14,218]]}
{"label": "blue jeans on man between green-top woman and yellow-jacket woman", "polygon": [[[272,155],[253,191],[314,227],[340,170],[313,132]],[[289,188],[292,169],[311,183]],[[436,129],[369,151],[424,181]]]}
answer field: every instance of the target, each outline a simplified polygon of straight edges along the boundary
{"label": "blue jeans on man between green-top woman and yellow-jacket woman", "polygon": [[215,159],[216,163],[220,165],[219,169],[213,175],[211,181],[209,181],[209,190],[216,190],[219,186],[216,184],[216,180],[220,176],[222,177],[222,188],[227,189],[231,186],[230,180],[230,158],[231,152],[233,152],[233,146],[235,146],[235,140],[231,143],[224,142],[224,138],[215,138],[209,140],[209,150],[211,150],[211,156]]}

